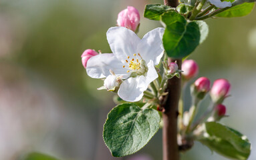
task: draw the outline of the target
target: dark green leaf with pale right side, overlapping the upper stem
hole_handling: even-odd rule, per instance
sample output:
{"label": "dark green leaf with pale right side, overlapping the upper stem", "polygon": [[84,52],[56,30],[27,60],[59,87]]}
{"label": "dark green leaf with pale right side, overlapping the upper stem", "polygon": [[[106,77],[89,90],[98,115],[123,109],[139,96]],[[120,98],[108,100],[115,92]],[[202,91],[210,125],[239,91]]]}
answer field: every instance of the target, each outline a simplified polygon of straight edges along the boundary
{"label": "dark green leaf with pale right side, overlapping the upper stem", "polygon": [[186,21],[175,11],[161,16],[166,27],[163,35],[164,49],[169,57],[182,58],[192,53],[208,35],[208,26],[203,21]]}

